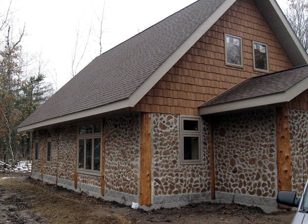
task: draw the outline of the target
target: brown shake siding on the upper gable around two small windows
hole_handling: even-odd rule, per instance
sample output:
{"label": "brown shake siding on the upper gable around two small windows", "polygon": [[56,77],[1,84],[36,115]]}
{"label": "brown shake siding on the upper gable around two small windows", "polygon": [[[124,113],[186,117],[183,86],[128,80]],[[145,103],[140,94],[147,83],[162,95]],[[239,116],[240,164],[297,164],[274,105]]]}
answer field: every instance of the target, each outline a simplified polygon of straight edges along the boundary
{"label": "brown shake siding on the upper gable around two small windows", "polygon": [[[224,33],[242,37],[243,68],[225,65]],[[198,106],[263,73],[253,69],[253,40],[268,45],[269,72],[293,67],[252,0],[239,0],[132,109],[199,115]]]}

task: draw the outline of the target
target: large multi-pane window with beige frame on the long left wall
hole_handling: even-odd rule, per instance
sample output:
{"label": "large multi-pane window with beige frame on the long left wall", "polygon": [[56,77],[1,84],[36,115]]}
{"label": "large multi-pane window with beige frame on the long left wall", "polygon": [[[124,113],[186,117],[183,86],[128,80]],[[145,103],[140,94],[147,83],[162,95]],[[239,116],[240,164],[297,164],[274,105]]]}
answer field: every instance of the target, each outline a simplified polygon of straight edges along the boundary
{"label": "large multi-pane window with beige frame on the long left wall", "polygon": [[83,125],[78,134],[78,169],[82,172],[101,170],[101,124]]}

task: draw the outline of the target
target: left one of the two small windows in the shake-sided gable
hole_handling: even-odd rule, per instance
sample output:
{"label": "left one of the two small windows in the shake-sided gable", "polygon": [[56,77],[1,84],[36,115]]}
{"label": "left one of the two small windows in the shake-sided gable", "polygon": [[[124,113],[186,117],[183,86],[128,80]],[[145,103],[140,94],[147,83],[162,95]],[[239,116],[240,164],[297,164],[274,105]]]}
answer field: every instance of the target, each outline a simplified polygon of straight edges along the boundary
{"label": "left one of the two small windows in the shake-sided gable", "polygon": [[243,67],[242,38],[225,33],[226,65]]}

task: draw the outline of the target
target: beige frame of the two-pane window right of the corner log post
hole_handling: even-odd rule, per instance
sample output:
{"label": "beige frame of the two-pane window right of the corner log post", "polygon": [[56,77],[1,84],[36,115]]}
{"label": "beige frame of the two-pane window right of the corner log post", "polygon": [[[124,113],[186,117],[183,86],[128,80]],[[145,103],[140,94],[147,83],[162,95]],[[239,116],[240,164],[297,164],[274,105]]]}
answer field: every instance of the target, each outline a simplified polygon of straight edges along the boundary
{"label": "beige frame of the two-pane window right of the corner log post", "polygon": [[[197,120],[198,121],[198,131],[191,131],[191,130],[184,130],[184,120]],[[202,153],[201,153],[201,138],[202,138],[202,131],[201,131],[201,117],[200,116],[187,116],[181,115],[180,116],[180,164],[181,165],[200,165],[202,164]],[[184,137],[198,137],[198,155],[199,159],[184,159]]]}

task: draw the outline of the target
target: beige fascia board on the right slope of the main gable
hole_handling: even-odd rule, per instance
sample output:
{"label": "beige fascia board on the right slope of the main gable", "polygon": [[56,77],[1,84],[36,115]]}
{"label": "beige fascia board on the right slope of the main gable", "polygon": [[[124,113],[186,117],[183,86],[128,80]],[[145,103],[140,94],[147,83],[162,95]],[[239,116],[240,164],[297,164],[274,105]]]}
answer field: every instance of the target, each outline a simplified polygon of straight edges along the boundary
{"label": "beige fascia board on the right slope of the main gable", "polygon": [[305,62],[308,64],[308,55],[305,52],[305,49],[303,48],[302,44],[299,42],[299,39],[297,38],[297,36],[296,36],[294,30],[292,29],[290,23],[288,23],[286,17],[284,16],[283,12],[281,11],[278,3],[276,2],[276,0],[268,0],[268,1],[274,7],[277,15],[281,19],[281,22],[283,23],[284,27],[286,28],[286,30],[288,31],[288,33],[292,37],[292,40],[294,41],[294,43],[295,43],[296,47],[298,48],[299,52],[301,53],[301,55],[305,59]]}

